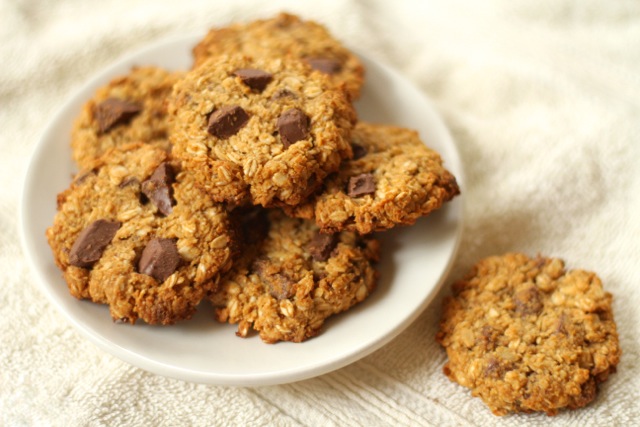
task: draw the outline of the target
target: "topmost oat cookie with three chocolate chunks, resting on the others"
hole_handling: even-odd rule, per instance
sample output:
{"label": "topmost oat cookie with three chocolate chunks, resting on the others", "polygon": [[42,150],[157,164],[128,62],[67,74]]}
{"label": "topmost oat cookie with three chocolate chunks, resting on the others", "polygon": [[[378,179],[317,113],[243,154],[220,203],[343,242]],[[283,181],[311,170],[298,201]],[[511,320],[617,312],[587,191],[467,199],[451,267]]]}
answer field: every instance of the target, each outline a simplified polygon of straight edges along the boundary
{"label": "topmost oat cookie with three chocolate chunks, resting on the others", "polygon": [[176,83],[169,112],[173,154],[220,202],[300,203],[351,156],[353,106],[292,58],[215,57]]}

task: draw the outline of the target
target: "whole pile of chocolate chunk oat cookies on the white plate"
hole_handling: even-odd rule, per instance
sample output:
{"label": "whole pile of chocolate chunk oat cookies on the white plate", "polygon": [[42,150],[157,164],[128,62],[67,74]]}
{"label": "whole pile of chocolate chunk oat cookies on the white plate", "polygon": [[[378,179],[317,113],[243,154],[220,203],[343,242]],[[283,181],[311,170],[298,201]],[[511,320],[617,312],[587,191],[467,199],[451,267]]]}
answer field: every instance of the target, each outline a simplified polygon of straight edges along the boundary
{"label": "whole pile of chocolate chunk oat cookies on the white plate", "polygon": [[81,172],[47,238],[71,294],[133,324],[218,321],[301,342],[375,288],[374,232],[459,193],[415,131],[358,122],[364,69],[281,14],[213,29],[186,72],[139,67],[76,120]]}

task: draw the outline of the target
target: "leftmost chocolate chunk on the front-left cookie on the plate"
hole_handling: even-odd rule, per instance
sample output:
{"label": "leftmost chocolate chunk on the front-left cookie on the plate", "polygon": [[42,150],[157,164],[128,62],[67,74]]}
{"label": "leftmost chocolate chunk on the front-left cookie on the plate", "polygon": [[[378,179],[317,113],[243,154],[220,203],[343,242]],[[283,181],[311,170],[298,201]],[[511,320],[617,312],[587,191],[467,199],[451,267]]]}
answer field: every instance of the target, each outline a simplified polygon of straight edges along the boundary
{"label": "leftmost chocolate chunk on the front-left cookie on the plate", "polygon": [[102,256],[116,231],[120,228],[120,222],[99,219],[89,224],[80,232],[71,251],[69,252],[69,264],[89,268]]}

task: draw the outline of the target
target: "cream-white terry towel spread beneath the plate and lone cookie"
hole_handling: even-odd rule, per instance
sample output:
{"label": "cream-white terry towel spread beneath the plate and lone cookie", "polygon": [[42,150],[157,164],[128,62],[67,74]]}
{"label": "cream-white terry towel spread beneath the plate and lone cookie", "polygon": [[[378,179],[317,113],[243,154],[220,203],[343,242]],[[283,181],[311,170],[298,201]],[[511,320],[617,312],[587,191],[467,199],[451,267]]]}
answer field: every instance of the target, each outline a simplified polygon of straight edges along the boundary
{"label": "cream-white terry towel spread beneath the plate and lone cookie", "polygon": [[[442,374],[434,342],[442,295],[363,360],[261,388],[134,368],[48,303],[22,254],[17,216],[29,155],[56,110],[122,54],[281,10],[399,69],[443,115],[466,173],[449,283],[506,251],[559,256],[601,276],[624,354],[590,406],[551,419],[494,417]],[[1,425],[640,422],[640,2],[2,0],[0,17]]]}

